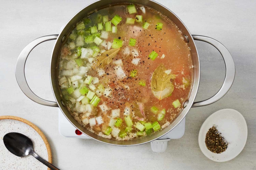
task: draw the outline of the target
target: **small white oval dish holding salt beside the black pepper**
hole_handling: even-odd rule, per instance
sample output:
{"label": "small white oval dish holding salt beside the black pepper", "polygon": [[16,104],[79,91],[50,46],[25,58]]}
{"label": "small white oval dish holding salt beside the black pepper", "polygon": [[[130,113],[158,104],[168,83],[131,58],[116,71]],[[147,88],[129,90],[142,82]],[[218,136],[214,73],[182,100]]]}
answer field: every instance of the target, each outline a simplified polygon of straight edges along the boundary
{"label": "small white oval dish holding salt beside the black pepper", "polygon": [[[205,145],[208,130],[215,125],[228,142],[228,148],[222,153],[212,153]],[[216,162],[225,162],[235,158],[243,149],[247,140],[247,125],[241,113],[234,109],[222,109],[210,115],[202,124],[198,143],[204,155]]]}

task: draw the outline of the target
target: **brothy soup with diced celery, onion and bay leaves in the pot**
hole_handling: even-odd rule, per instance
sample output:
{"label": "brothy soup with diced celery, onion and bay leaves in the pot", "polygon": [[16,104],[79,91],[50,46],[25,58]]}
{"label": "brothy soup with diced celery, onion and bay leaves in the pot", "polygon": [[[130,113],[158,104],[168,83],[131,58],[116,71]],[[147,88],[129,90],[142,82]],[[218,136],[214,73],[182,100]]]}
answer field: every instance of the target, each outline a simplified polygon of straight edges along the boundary
{"label": "brothy soup with diced celery, onion and bay leaves in the pot", "polygon": [[116,140],[167,127],[190,92],[193,65],[178,27],[126,4],[85,16],[60,52],[59,85],[86,129]]}

